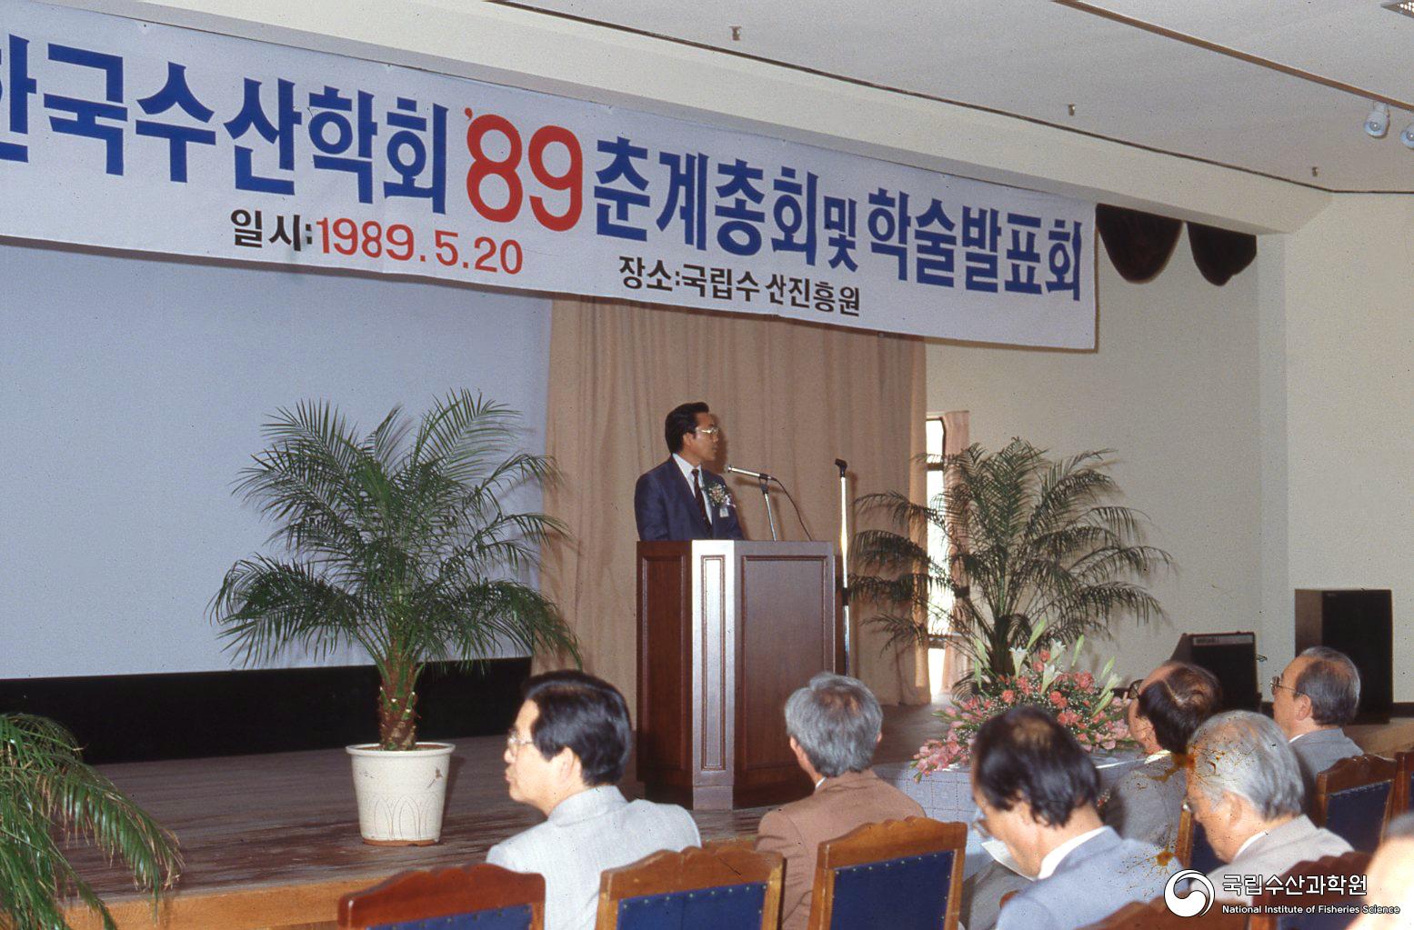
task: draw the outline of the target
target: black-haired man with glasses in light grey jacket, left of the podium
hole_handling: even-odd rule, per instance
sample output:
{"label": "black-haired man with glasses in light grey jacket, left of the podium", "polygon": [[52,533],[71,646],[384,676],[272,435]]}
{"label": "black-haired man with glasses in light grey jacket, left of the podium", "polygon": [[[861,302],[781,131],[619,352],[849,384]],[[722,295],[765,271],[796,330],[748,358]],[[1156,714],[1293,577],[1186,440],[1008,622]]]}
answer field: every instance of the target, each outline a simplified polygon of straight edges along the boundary
{"label": "black-haired man with glasses in light grey jacket, left of the podium", "polygon": [[510,799],[549,820],[486,852],[486,862],[544,876],[546,930],[592,930],[600,873],[659,849],[697,845],[682,807],[624,800],[632,742],[628,705],[608,681],[580,671],[527,680],[506,736]]}

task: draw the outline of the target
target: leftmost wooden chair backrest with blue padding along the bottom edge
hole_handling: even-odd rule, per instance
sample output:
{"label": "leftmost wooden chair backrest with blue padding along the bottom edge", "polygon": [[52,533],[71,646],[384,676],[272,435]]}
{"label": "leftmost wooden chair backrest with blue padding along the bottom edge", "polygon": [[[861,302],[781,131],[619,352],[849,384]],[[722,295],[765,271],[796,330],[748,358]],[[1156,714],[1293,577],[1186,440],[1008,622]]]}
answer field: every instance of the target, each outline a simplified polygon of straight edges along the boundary
{"label": "leftmost wooden chair backrest with blue padding along the bottom edge", "polygon": [[339,930],[542,930],[544,878],[499,865],[400,872],[339,899]]}

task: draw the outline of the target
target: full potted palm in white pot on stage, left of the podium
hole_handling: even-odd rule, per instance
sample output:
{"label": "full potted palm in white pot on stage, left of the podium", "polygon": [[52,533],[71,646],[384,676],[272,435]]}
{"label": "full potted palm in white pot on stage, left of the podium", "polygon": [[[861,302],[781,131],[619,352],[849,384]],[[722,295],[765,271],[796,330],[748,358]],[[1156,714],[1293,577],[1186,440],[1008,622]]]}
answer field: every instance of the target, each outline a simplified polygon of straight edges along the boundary
{"label": "full potted palm in white pot on stage, left of the podium", "polygon": [[417,680],[428,661],[475,664],[510,646],[566,652],[574,635],[526,579],[560,533],[508,495],[553,472],[516,449],[516,414],[461,392],[419,423],[395,407],[368,435],[327,403],[281,410],[236,493],[276,523],[280,555],[226,572],[212,599],[246,664],[287,647],[362,647],[378,667],[378,743],[349,746],[365,842],[441,835],[450,743],[417,742]]}

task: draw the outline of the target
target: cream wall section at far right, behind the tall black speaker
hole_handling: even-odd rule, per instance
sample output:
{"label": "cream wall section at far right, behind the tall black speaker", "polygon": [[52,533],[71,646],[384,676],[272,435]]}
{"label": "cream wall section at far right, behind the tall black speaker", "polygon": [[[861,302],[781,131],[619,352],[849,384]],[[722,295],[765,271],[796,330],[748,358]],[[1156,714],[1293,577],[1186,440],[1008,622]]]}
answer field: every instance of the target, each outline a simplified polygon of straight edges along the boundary
{"label": "cream wall section at far right, behind the tall black speaker", "polygon": [[1390,588],[1394,700],[1414,701],[1414,199],[1338,195],[1268,239],[1285,307],[1270,431],[1287,441],[1285,512],[1267,523],[1288,537],[1268,654],[1291,659],[1294,588]]}

